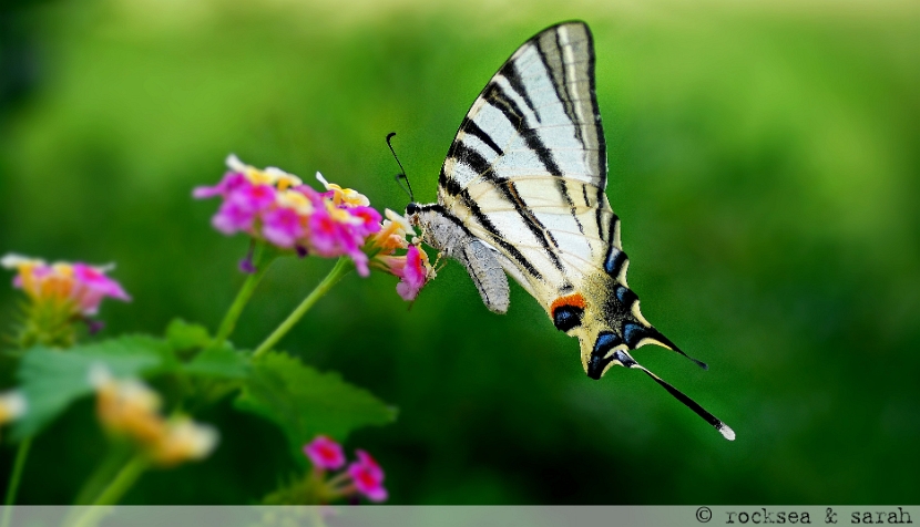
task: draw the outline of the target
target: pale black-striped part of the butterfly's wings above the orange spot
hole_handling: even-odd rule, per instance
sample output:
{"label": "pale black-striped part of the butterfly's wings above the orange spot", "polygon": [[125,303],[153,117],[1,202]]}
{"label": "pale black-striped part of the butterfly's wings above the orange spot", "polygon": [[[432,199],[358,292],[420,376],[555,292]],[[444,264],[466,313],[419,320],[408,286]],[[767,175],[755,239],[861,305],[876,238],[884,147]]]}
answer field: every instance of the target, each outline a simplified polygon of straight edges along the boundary
{"label": "pale black-striped part of the butterfly's wings above the orange spot", "polygon": [[549,311],[619,248],[606,172],[591,32],[566,22],[521,45],[477,97],[438,198]]}

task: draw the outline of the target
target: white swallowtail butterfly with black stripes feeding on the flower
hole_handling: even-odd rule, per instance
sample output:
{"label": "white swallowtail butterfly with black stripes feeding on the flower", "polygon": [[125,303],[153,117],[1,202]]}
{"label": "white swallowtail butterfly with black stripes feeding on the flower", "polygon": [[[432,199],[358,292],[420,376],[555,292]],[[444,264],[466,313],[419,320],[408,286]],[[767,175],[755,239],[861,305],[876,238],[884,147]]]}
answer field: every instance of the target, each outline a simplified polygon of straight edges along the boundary
{"label": "white swallowtail butterfly with black stripes feeding on the flower", "polygon": [[466,267],[490,310],[508,310],[511,276],[558,330],[579,339],[590,378],[614,365],[641,370],[734,440],[630,354],[657,344],[706,369],[642,316],[606,177],[593,38],[584,22],[563,22],[524,42],[492,76],[450,145],[438,203],[412,202],[406,216],[428,245]]}

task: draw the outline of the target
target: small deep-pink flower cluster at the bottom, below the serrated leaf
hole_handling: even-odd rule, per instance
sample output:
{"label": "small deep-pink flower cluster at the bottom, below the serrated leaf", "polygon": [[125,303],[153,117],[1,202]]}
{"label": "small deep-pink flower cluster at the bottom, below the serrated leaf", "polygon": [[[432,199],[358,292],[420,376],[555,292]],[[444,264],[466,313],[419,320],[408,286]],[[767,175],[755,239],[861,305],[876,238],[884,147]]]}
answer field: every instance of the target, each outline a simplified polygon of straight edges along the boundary
{"label": "small deep-pink flower cluster at the bottom, below the serrated leaf", "polygon": [[[320,435],[304,445],[304,454],[314,466],[313,477],[320,484],[320,496],[325,499],[362,495],[371,502],[385,502],[387,489],[384,487],[384,469],[370,454],[355,451],[357,459],[347,467],[341,445]],[[326,479],[328,471],[345,471]]]}

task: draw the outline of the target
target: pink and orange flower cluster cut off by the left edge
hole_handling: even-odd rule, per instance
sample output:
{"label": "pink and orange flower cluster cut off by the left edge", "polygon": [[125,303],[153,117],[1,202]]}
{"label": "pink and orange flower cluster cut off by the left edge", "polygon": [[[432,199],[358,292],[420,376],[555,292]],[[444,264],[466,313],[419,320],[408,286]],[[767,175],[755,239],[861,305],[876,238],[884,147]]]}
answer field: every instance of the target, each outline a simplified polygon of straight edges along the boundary
{"label": "pink and orange flower cluster cut off by the left edge", "polygon": [[23,348],[41,343],[71,345],[72,322],[82,320],[91,332],[102,328],[92,317],[106,297],[129,301],[131,297],[106,272],[114,266],[90,266],[83,262],[48,264],[38,258],[10,254],[0,258],[0,266],[17,271],[13,287],[29,298],[23,306],[23,323],[19,344]]}

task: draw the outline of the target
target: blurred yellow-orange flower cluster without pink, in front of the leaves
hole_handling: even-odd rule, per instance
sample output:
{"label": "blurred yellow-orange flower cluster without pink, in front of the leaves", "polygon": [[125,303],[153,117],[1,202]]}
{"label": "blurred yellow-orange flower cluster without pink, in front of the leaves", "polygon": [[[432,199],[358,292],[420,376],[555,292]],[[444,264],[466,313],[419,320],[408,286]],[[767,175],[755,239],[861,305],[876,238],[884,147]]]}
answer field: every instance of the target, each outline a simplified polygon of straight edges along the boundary
{"label": "blurred yellow-orange flower cluster without pink, in front of the leaves", "polygon": [[96,414],[113,435],[137,443],[161,466],[203,459],[217,446],[216,428],[188,417],[164,418],[160,394],[136,379],[116,380],[103,365],[90,371],[96,393]]}

